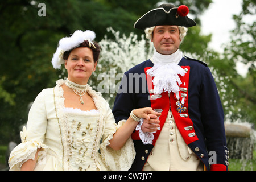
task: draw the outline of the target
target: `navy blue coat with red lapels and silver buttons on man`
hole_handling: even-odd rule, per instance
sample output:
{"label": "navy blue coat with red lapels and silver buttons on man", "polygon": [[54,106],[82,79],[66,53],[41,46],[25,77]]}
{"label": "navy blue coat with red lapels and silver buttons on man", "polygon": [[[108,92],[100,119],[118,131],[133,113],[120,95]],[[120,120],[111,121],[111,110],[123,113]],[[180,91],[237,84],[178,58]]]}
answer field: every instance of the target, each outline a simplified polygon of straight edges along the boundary
{"label": "navy blue coat with red lapels and silver buttons on man", "polygon": [[[181,59],[179,65],[187,71],[184,77],[179,75],[182,81],[180,87],[183,88],[180,93],[185,97],[184,107],[186,108],[183,111],[177,110],[174,94],[171,94],[170,101],[167,93],[162,93],[160,98],[153,99],[154,94],[150,90],[154,85],[148,81],[150,76],[146,74],[146,70],[153,65],[150,60],[146,60],[125,73],[114,102],[115,121],[129,118],[133,109],[152,107],[152,109],[163,110],[160,121],[164,123],[171,101],[171,111],[177,128],[185,143],[204,163],[205,169],[227,170],[228,148],[224,113],[216,84],[207,64],[188,57]],[[130,170],[143,169],[160,131],[154,134],[154,142],[147,145],[139,139],[138,131],[134,131],[132,138],[136,157]]]}

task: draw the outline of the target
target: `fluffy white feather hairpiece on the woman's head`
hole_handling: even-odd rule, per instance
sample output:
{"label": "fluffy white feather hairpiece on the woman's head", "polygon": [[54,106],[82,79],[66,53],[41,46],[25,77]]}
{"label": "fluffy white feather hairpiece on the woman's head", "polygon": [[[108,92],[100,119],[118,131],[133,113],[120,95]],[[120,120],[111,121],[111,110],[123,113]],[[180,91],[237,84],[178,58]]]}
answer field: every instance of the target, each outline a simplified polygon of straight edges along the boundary
{"label": "fluffy white feather hairpiece on the woman's head", "polygon": [[56,52],[52,57],[53,68],[60,69],[61,64],[65,63],[65,60],[63,59],[64,52],[76,48],[85,40],[88,40],[89,45],[93,45],[93,47],[95,48],[93,44],[93,40],[95,39],[95,37],[95,32],[91,30],[86,30],[85,32],[77,30],[71,37],[65,37],[60,39],[59,47],[57,48]]}

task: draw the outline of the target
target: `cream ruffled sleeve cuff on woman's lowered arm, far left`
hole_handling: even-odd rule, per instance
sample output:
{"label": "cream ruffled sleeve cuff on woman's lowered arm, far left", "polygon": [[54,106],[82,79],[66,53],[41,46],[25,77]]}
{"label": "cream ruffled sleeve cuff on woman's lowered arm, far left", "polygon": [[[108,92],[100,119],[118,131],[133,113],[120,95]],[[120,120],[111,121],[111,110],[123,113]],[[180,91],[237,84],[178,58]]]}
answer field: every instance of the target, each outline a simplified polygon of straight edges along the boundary
{"label": "cream ruffled sleeve cuff on woman's lowered arm, far left", "polygon": [[[38,141],[26,141],[26,127],[23,127],[23,132],[20,133],[22,143],[14,148],[10,153],[9,167],[10,171],[19,171],[24,162],[29,159],[35,159],[35,154],[38,148],[45,152],[41,152],[42,156],[46,155],[48,147],[42,142]],[[40,156],[40,157],[42,157]]]}

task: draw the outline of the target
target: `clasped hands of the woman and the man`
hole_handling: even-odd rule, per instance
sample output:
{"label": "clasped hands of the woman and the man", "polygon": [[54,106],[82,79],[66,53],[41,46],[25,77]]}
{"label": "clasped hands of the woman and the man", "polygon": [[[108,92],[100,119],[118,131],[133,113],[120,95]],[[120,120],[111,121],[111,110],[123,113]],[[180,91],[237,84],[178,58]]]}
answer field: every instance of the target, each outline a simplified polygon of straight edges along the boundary
{"label": "clasped hands of the woman and the man", "polygon": [[160,127],[160,120],[158,118],[161,113],[155,112],[151,107],[136,109],[133,111],[133,114],[144,119],[141,126],[143,133],[157,131],[158,127]]}

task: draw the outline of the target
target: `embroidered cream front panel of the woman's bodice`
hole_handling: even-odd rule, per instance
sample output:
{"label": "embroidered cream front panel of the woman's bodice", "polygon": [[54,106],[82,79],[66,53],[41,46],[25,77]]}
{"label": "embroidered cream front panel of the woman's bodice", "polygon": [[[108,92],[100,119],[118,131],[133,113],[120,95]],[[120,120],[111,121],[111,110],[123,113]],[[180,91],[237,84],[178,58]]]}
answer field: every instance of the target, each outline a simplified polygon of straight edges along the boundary
{"label": "embroidered cream front panel of the woman's bodice", "polygon": [[[65,111],[68,119],[68,162],[73,170],[96,170],[102,127],[100,113]],[[78,168],[77,168],[78,166]]]}

